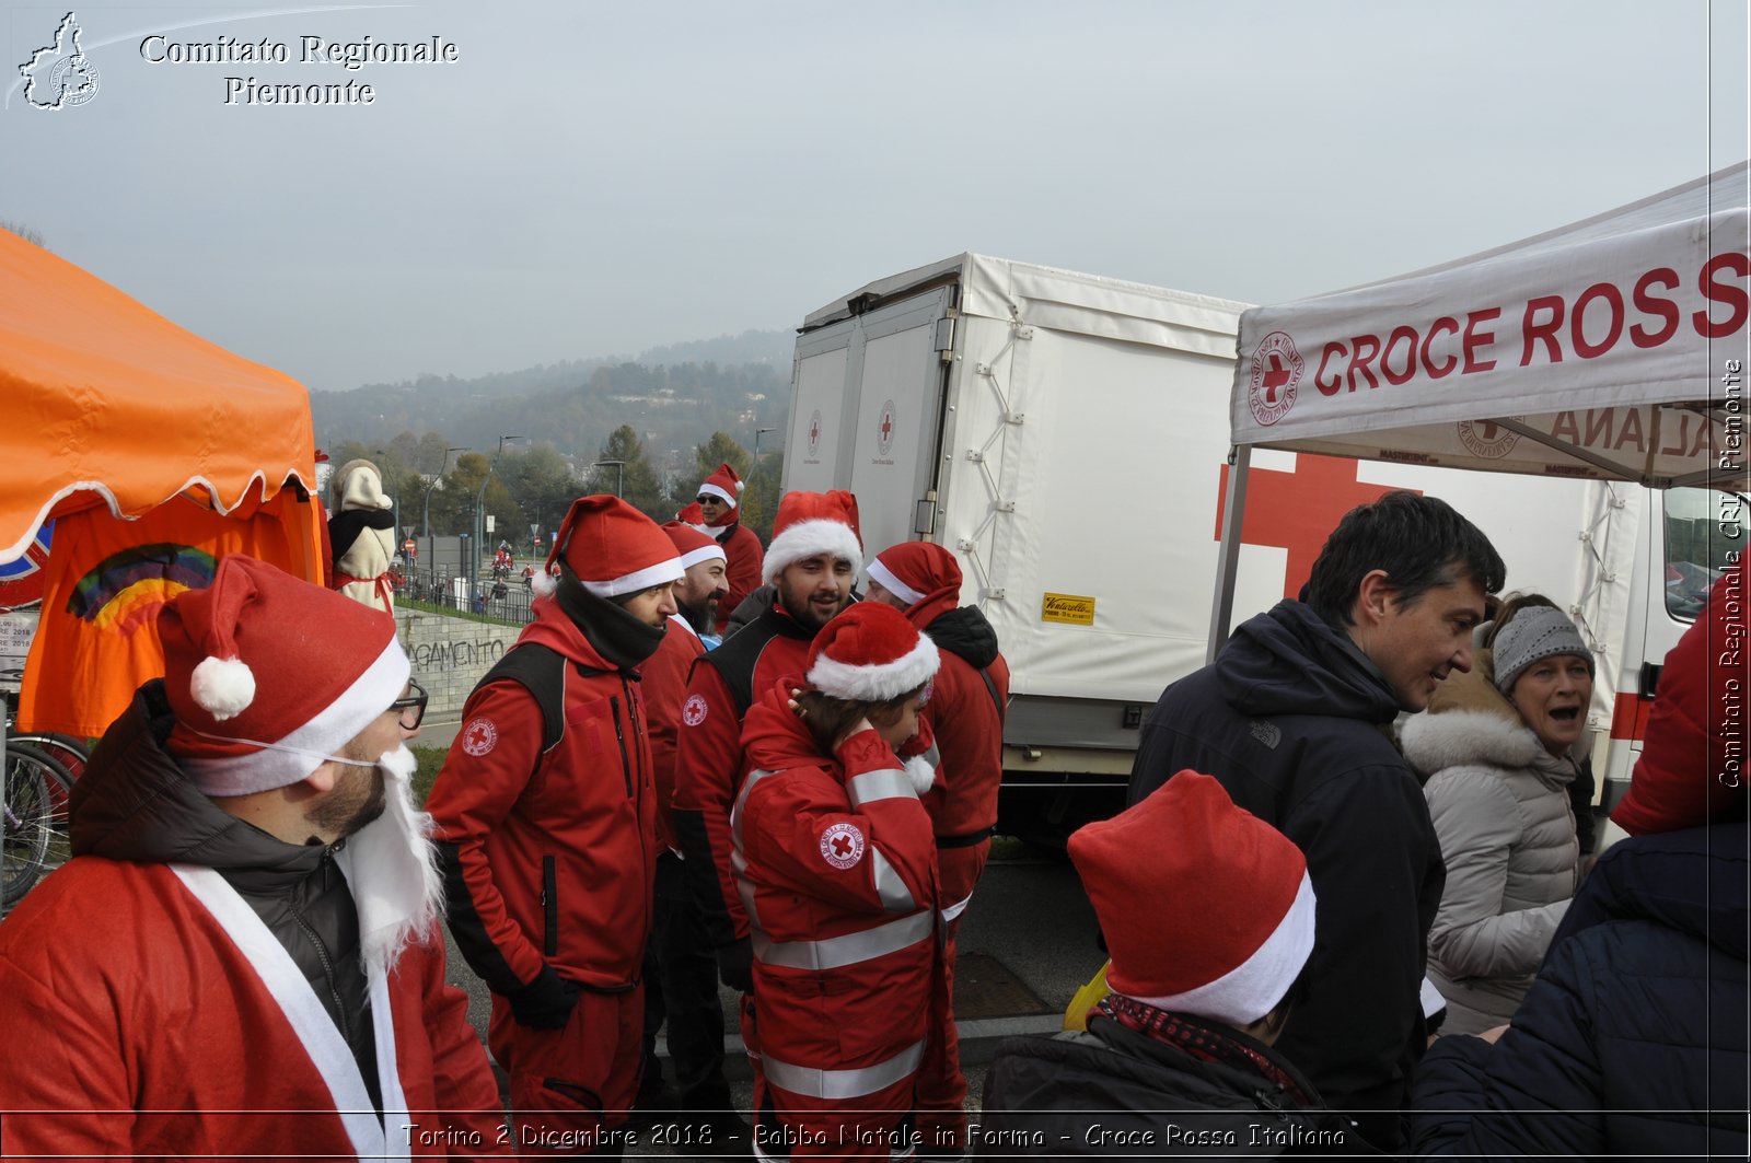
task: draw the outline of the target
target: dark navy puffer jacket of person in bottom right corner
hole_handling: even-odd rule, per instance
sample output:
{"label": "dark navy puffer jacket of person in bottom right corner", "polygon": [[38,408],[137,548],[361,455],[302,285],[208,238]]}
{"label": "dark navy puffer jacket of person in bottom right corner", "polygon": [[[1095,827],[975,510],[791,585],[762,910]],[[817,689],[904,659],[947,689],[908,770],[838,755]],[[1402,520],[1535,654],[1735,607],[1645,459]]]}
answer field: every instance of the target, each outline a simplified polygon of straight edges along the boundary
{"label": "dark navy puffer jacket of person in bottom right corner", "polygon": [[1607,849],[1508,1033],[1424,1058],[1415,1152],[1746,1158],[1747,876],[1744,823]]}

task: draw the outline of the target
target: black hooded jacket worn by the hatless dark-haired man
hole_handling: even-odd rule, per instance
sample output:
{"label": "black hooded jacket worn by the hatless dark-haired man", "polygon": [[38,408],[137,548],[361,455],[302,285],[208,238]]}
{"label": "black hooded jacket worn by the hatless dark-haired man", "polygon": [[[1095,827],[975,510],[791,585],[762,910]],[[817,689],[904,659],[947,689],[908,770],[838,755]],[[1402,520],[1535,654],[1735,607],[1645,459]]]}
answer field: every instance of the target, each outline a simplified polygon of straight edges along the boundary
{"label": "black hooded jacket worn by the hatless dark-haired man", "polygon": [[1446,881],[1422,788],[1387,734],[1397,711],[1348,636],[1278,603],[1163,692],[1129,790],[1135,804],[1180,771],[1215,776],[1306,855],[1317,944],[1276,1047],[1387,1151],[1427,1044],[1424,942]]}

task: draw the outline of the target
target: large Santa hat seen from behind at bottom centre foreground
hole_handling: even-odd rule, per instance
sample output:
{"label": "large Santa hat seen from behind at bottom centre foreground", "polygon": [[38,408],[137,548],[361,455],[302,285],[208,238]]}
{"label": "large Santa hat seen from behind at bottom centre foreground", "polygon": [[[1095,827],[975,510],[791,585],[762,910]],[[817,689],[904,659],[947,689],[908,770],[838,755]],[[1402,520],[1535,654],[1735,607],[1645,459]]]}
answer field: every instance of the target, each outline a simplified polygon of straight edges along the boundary
{"label": "large Santa hat seen from behind at bottom centre foreground", "polygon": [[1079,828],[1070,860],[1112,955],[1107,984],[1147,1005],[1252,1025],[1313,951],[1306,858],[1210,776],[1182,771]]}

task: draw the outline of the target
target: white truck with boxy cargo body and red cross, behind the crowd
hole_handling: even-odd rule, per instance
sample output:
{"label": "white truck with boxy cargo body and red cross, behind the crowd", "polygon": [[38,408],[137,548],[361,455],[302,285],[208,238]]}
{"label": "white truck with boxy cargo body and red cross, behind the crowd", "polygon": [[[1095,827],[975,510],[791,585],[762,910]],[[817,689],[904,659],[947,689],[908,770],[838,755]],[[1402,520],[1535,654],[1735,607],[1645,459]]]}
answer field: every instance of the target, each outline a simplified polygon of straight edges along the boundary
{"label": "white truck with boxy cargo body and red cross, behind the crowd", "polygon": [[[1205,662],[1241,310],[961,254],[798,329],[784,489],[851,489],[870,555],[921,538],[960,559],[961,601],[1012,673],[1009,834],[1061,835],[1119,806],[1143,715]],[[1338,518],[1396,487],[1452,503],[1495,543],[1509,589],[1585,625],[1593,765],[1614,802],[1658,662],[1742,545],[1719,499],[1259,450],[1234,620],[1294,596]]]}

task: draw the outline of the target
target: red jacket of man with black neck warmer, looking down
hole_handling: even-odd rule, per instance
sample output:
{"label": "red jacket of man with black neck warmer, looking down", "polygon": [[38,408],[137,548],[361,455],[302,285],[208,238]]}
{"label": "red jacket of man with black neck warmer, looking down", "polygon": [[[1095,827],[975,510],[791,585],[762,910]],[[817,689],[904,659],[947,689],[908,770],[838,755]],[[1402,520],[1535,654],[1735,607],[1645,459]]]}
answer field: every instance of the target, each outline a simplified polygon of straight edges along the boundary
{"label": "red jacket of man with black neck warmer, looking down", "polygon": [[566,732],[541,750],[541,709],[515,680],[489,673],[468,697],[425,804],[466,888],[452,881],[450,930],[494,993],[531,984],[543,963],[622,990],[639,977],[657,869],[639,676],[602,659],[553,599],[534,610],[511,650],[566,659]]}

